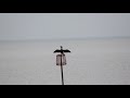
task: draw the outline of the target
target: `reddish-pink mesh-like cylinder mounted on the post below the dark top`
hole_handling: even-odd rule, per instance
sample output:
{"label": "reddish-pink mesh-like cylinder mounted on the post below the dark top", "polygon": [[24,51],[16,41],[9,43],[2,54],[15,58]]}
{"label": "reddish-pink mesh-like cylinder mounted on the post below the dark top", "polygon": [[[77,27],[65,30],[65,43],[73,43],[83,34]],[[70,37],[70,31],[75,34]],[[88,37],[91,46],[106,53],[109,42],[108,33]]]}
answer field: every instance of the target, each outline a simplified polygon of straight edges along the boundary
{"label": "reddish-pink mesh-like cylinder mounted on the post below the dark top", "polygon": [[56,65],[65,65],[65,64],[66,64],[65,54],[57,54],[56,56]]}

